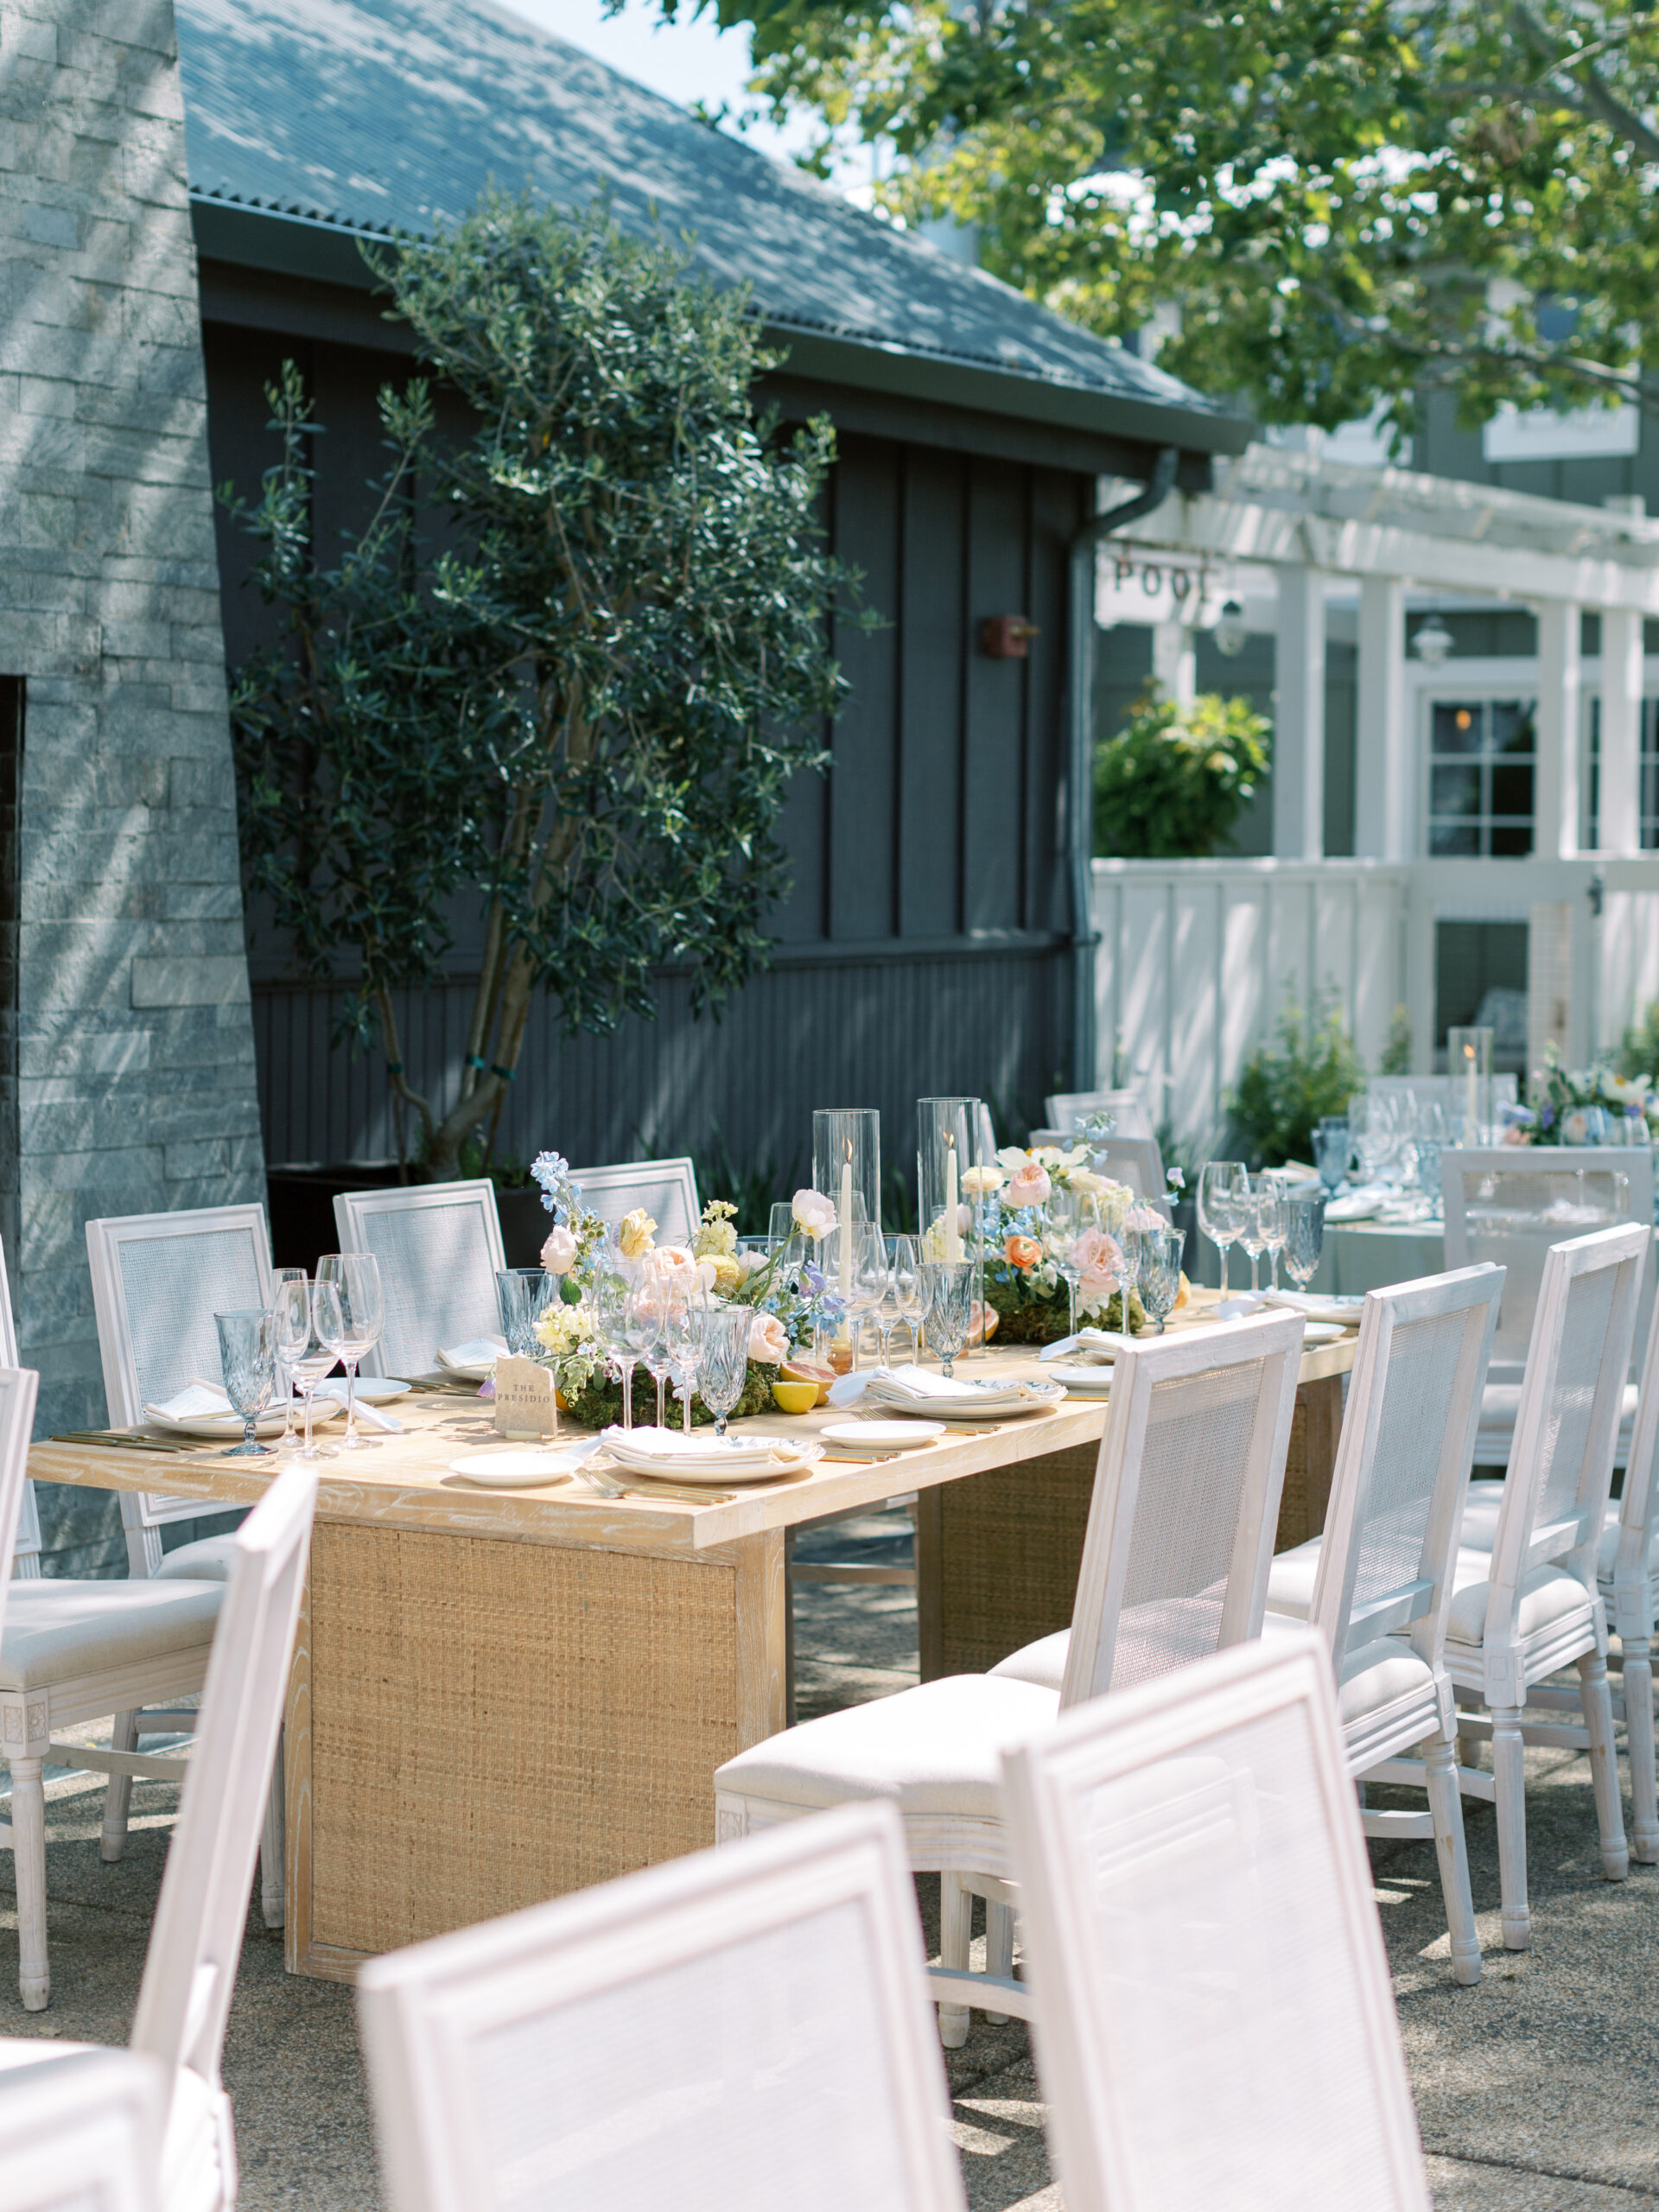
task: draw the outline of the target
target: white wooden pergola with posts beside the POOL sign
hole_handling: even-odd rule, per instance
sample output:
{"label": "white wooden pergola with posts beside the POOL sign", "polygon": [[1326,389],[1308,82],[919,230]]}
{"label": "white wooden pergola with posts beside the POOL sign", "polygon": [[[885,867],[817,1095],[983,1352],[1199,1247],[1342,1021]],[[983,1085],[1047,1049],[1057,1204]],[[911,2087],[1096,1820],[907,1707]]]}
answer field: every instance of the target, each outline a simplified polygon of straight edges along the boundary
{"label": "white wooden pergola with posts beside the POOL sign", "polygon": [[[1579,854],[1579,617],[1601,617],[1597,858],[1641,852],[1641,622],[1659,617],[1659,518],[1495,491],[1411,469],[1365,469],[1252,445],[1217,487],[1170,498],[1133,526],[1155,551],[1217,573],[1272,571],[1276,586],[1274,856],[1323,858],[1325,597],[1358,588],[1356,854],[1420,856],[1418,748],[1405,684],[1407,588],[1489,595],[1537,615],[1537,860]],[[1124,619],[1102,546],[1102,619]],[[1159,626],[1157,672],[1190,684],[1192,604]],[[1146,615],[1141,615],[1146,619]],[[1188,635],[1183,635],[1188,633]]]}

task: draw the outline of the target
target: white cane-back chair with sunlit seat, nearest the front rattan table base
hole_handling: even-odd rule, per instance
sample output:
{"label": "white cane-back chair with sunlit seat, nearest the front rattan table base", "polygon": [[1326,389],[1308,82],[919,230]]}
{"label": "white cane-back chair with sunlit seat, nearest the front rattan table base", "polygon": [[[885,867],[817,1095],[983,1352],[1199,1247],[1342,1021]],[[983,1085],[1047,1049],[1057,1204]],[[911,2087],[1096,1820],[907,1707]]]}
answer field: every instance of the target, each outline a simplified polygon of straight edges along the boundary
{"label": "white cane-back chair with sunlit seat, nearest the front rattan table base", "polygon": [[[830,1712],[714,1774],[721,1840],[856,1798],[889,1798],[911,1867],[940,1874],[936,1995],[947,2044],[969,2006],[1020,2013],[998,1750],[1055,1712],[1261,1635],[1296,1400],[1301,1314],[1119,1352],[1071,1630],[989,1674],[951,1674]],[[969,1916],[987,1900],[987,1973]]]}

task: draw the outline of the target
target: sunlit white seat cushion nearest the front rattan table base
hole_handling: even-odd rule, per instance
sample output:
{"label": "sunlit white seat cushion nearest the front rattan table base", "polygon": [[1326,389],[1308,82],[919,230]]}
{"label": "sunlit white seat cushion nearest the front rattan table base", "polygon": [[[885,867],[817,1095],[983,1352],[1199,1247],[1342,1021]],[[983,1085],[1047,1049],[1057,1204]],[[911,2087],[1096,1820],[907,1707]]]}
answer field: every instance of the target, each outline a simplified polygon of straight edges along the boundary
{"label": "sunlit white seat cushion nearest the front rattan table base", "polygon": [[947,1674],[898,1697],[785,1728],[714,1772],[734,1796],[823,1807],[891,1798],[902,1814],[995,1820],[1000,1752],[1051,1728],[1060,1694],[995,1674]]}

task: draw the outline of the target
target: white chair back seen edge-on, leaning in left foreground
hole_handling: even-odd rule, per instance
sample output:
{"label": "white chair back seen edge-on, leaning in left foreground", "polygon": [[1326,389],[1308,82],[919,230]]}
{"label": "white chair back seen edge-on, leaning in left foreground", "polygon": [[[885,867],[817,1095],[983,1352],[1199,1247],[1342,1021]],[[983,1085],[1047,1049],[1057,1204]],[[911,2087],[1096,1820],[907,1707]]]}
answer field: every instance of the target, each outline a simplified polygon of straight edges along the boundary
{"label": "white chair back seen edge-on, leaning in left foreground", "polygon": [[135,2051],[161,2059],[168,2079],[188,2066],[212,2090],[283,1725],[314,1511],[314,1471],[288,1467],[237,1531],[133,2020]]}

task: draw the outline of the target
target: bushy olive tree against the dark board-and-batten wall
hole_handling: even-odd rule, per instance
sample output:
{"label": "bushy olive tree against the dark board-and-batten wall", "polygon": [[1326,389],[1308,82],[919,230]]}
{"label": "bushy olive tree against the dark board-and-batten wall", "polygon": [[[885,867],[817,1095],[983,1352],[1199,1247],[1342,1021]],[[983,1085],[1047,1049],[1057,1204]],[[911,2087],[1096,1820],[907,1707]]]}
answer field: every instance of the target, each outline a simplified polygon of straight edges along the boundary
{"label": "bushy olive tree against the dark board-and-batten wall", "polygon": [[[387,471],[330,562],[312,407],[272,387],[257,502],[270,646],[232,717],[250,889],[345,1031],[387,1060],[434,1175],[493,1130],[531,1009],[566,1033],[653,1013],[664,962],[717,1006],[765,964],[785,783],[845,681],[823,551],[827,422],[779,436],[776,356],[737,290],[597,204],[487,197],[376,261],[427,376],[380,394]],[[436,392],[465,400],[445,436]],[[460,1097],[411,1082],[394,991],[438,980],[473,907]],[[398,1119],[403,1137],[403,1119]]]}

